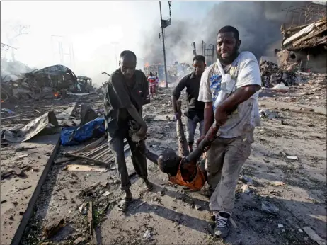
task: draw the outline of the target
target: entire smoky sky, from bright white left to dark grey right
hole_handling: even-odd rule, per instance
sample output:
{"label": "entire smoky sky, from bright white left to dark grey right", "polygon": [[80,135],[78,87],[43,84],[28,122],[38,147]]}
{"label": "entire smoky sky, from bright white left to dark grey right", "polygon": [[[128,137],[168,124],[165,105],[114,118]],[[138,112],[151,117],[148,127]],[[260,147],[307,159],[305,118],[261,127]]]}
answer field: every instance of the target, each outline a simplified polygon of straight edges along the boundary
{"label": "entire smoky sky, from bright white left to dark grey right", "polygon": [[[280,25],[286,16],[282,9],[303,4],[308,1],[173,1],[171,25],[165,30],[167,64],[190,64],[191,42],[196,42],[201,54],[201,41],[215,44],[217,31],[224,25],[239,29],[241,50],[257,57],[272,55],[282,38]],[[163,18],[168,19],[168,2],[162,1],[161,6]],[[108,80],[101,72],[111,73],[117,68],[116,57],[122,50],[136,53],[137,69],[146,62],[164,63],[159,20],[157,1],[7,1],[1,2],[1,42],[17,47],[16,60],[28,67],[63,64],[76,76],[89,76],[100,86]],[[28,25],[28,34],[11,43],[8,39],[16,36],[13,27],[18,24]],[[59,57],[59,42],[65,54],[73,53],[73,62],[69,55],[64,55],[64,61]],[[70,46],[74,52],[69,51]],[[2,57],[11,59],[11,50],[1,52]]]}

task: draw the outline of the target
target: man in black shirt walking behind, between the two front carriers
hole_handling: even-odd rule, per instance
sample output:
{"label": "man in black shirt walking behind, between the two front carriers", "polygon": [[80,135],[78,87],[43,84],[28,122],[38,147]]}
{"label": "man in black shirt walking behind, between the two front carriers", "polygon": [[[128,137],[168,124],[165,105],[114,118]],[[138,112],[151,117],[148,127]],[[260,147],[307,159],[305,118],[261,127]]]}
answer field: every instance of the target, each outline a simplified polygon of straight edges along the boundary
{"label": "man in black shirt walking behind, between the two front carriers", "polygon": [[186,116],[186,138],[188,140],[188,149],[193,151],[194,135],[197,123],[199,124],[200,135],[204,135],[204,110],[205,103],[198,101],[200,89],[200,79],[202,73],[205,71],[205,57],[202,55],[196,55],[193,58],[194,72],[184,76],[183,79],[177,84],[173,90],[173,96],[171,101],[173,104],[173,113],[175,119],[178,120],[181,115],[178,114],[176,101],[180,97],[180,93],[186,88],[186,105],[188,110],[184,113]]}

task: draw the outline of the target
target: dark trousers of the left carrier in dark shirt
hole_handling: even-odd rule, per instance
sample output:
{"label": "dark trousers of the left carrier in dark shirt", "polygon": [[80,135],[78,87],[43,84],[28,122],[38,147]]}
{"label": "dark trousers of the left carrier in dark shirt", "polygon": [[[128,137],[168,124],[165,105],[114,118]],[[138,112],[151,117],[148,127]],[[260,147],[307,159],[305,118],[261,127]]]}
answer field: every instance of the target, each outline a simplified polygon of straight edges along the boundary
{"label": "dark trousers of the left carrier in dark shirt", "polygon": [[[145,157],[144,150],[145,144],[144,140],[139,143],[135,143],[132,139],[127,136],[127,143],[130,145],[130,151],[132,153],[132,163],[135,169],[135,172],[140,178],[148,177],[147,169],[147,158]],[[111,138],[108,141],[108,145],[115,155],[116,169],[118,175],[120,176],[121,189],[128,190],[131,186],[130,178],[128,177],[128,171],[125,161],[125,152],[124,152],[124,137],[115,137]]]}

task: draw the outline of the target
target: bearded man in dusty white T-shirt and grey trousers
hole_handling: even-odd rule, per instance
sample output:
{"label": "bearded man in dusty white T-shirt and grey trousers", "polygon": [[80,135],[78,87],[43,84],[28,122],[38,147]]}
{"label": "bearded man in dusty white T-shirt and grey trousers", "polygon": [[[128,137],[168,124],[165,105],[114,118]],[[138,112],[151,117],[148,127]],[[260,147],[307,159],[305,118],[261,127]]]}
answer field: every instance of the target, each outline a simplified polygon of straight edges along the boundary
{"label": "bearded man in dusty white T-shirt and grey trousers", "polygon": [[[205,69],[200,82],[198,101],[205,102],[205,132],[213,123],[219,126],[217,139],[206,153],[207,182],[214,192],[210,198],[210,210],[214,212],[214,234],[227,237],[228,219],[234,207],[235,188],[239,173],[251,154],[254,127],[260,125],[258,91],[261,77],[258,61],[251,52],[239,52],[239,31],[225,26],[217,34],[217,62]],[[214,101],[221,90],[222,74],[218,62],[226,74],[236,81],[233,92],[217,108]],[[224,75],[224,74],[223,74]],[[234,113],[228,115],[228,112]],[[200,143],[203,136],[197,141]]]}

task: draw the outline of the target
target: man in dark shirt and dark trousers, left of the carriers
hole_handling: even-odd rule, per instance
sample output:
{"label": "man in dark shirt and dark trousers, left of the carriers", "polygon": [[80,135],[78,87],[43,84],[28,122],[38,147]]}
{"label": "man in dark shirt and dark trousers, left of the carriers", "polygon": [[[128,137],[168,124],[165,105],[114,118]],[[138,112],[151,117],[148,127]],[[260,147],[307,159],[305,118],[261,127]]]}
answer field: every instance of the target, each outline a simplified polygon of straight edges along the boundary
{"label": "man in dark shirt and dark trousers, left of the carriers", "polygon": [[[147,124],[142,118],[142,106],[150,103],[147,77],[143,72],[135,70],[137,57],[132,51],[120,54],[119,69],[111,74],[105,91],[105,127],[108,132],[108,145],[115,155],[116,168],[120,176],[121,189],[125,198],[119,204],[121,210],[127,210],[132,201],[130,180],[127,172],[124,151],[124,139],[127,139],[132,152],[132,163],[139,178],[142,178],[147,190],[152,184],[147,179],[147,159],[144,154],[144,138],[147,135]],[[129,123],[139,125],[136,135],[139,142],[128,134]]]}

